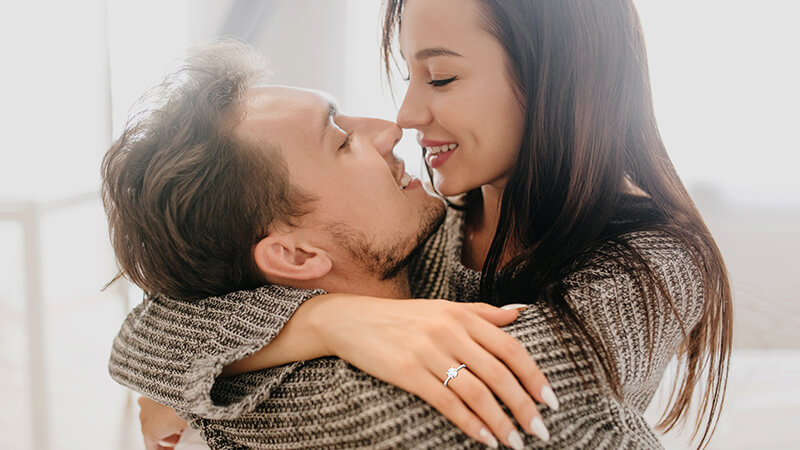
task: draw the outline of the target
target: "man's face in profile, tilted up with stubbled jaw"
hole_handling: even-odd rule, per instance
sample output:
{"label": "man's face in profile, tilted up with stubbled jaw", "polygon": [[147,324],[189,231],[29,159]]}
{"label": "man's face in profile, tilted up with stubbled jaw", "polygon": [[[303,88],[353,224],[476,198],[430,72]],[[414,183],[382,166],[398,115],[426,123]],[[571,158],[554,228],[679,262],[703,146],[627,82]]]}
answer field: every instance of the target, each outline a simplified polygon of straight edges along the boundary
{"label": "man's face in profile, tilted up with stubbled jaw", "polygon": [[298,226],[331,249],[334,264],[350,260],[381,278],[393,276],[444,213],[441,200],[418,179],[409,182],[392,154],[400,128],[338,114],[313,91],[259,87],[248,97],[236,133],[277,148],[290,182],[317,199]]}

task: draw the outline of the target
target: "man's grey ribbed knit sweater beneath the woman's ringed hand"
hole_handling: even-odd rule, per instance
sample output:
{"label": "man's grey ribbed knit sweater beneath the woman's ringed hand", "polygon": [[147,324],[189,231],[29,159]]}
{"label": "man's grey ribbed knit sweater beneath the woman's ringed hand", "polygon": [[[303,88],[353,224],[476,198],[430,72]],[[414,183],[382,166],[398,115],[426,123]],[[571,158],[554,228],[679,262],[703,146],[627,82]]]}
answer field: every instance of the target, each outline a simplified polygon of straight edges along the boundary
{"label": "man's grey ribbed knit sweater beneath the woman's ringed hand", "polygon": [[[503,330],[523,344],[551,380],[561,407],[541,410],[550,430],[545,444],[521,434],[525,448],[661,448],[638,411],[618,401],[593,376],[594,362],[569,350],[581,340],[567,329],[553,333],[557,316],[533,304]],[[558,323],[555,324],[558,327]],[[272,370],[272,369],[269,369]],[[225,403],[255,392],[263,372],[221,379],[217,400]],[[409,378],[412,378],[409,376]],[[458,381],[459,378],[456,379]],[[444,389],[443,389],[444,390]],[[236,418],[210,420],[192,415],[212,448],[485,448],[418,396],[358,370],[336,358],[302,365],[273,388],[272,396]],[[472,438],[472,439],[471,439]],[[508,436],[498,436],[510,442]],[[508,444],[507,444],[508,445]]]}

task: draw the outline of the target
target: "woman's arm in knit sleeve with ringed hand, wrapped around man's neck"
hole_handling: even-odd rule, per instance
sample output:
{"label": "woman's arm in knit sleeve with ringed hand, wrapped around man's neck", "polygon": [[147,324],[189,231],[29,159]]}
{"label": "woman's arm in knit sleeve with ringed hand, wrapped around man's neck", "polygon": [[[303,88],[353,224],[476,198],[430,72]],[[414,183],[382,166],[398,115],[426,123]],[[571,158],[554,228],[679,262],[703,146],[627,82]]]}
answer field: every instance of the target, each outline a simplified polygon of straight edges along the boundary
{"label": "woman's arm in knit sleeve with ringed hand, wrapped around man's neck", "polygon": [[[262,378],[257,389],[220,401],[214,395],[224,385],[218,380],[223,366],[229,366],[230,373],[266,368],[295,357],[340,356],[430,402],[476,439],[485,430],[483,434],[490,431],[508,444],[505,439],[515,429],[495,395],[509,405],[525,431],[546,434],[534,399],[557,407],[555,395],[546,389],[546,379],[524,348],[497,328],[513,321],[516,310],[447,301],[319,296],[300,306],[270,345],[259,350],[256,345],[271,329],[260,328],[258,318],[266,311],[259,308],[270,306],[245,294],[238,293],[235,303],[204,300],[203,310],[158,301],[134,311],[115,343],[112,375],[171,407],[225,418],[244,414],[269,399],[271,390],[299,365],[262,371],[268,382]],[[219,323],[211,320],[224,309],[218,304],[229,302],[236,310]],[[216,323],[208,327],[214,332],[203,330],[208,323]],[[309,335],[308,330],[316,331]],[[324,345],[296,346],[285,337]],[[140,351],[132,348],[145,340],[147,345]],[[247,352],[254,355],[245,358]],[[447,368],[460,364],[468,370],[444,387]]]}

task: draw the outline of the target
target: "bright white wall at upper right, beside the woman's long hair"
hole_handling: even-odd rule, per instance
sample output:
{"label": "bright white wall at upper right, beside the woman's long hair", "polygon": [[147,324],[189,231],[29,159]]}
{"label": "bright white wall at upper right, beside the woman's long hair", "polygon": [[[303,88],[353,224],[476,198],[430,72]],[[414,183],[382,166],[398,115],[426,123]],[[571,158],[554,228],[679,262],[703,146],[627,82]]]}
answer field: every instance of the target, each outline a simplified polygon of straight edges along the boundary
{"label": "bright white wall at upper right, beside the woman's long hair", "polygon": [[636,0],[658,123],[690,187],[800,208],[800,3]]}

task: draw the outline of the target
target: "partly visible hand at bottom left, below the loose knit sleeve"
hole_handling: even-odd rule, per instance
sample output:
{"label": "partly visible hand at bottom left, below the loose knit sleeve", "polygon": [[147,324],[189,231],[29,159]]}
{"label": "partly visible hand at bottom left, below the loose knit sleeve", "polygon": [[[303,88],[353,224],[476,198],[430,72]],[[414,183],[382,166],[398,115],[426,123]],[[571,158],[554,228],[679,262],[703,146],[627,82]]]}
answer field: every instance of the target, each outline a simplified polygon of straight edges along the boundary
{"label": "partly visible hand at bottom left, below the loose knit sleeve", "polygon": [[174,448],[186,428],[186,422],[174,409],[147,397],[139,397],[139,423],[146,450]]}

